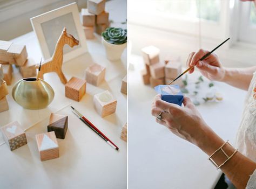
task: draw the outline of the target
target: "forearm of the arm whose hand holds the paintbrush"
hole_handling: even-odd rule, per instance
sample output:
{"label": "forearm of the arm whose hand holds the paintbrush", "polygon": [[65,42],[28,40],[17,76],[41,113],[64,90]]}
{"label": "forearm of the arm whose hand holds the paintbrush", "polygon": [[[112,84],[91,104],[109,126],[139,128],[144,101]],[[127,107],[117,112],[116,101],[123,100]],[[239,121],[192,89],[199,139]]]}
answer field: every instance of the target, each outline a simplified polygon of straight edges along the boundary
{"label": "forearm of the arm whose hand holds the paintbrush", "polygon": [[248,90],[255,71],[256,66],[248,68],[225,68],[225,76],[222,81],[231,86]]}

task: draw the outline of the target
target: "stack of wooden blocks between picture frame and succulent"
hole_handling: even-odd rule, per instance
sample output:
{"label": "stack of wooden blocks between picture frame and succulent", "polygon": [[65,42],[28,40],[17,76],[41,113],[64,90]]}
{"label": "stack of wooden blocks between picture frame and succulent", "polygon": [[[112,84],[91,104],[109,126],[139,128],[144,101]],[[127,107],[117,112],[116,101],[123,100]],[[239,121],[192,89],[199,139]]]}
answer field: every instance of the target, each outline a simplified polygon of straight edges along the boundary
{"label": "stack of wooden blocks between picture frame and succulent", "polygon": [[102,34],[109,27],[109,12],[105,11],[106,0],[88,0],[87,9],[82,9],[83,29],[87,39],[94,38],[93,32]]}

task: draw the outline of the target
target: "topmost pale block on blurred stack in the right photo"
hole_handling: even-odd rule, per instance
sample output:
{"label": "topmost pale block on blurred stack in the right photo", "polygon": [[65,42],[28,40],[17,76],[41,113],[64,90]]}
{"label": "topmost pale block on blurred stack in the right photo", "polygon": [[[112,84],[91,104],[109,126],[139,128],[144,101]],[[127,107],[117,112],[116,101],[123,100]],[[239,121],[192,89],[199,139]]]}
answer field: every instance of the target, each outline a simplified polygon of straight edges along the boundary
{"label": "topmost pale block on blurred stack in the right photo", "polygon": [[159,48],[154,46],[147,46],[142,48],[142,55],[145,64],[153,65],[159,62]]}

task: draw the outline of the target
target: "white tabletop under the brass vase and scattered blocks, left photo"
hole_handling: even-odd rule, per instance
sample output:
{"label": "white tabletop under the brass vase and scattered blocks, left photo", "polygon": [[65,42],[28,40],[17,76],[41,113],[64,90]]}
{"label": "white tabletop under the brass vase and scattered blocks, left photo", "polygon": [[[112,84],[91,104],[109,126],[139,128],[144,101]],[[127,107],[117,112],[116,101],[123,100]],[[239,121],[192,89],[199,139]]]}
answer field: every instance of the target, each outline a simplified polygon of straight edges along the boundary
{"label": "white tabletop under the brass vase and scattered blocks, left photo", "polygon": [[[126,19],[126,1],[106,3],[110,19],[123,22]],[[125,11],[124,11],[125,10]],[[114,23],[117,26],[118,23]],[[119,24],[120,25],[120,24]],[[122,25],[124,26],[124,25]],[[35,33],[30,32],[14,40],[25,44],[29,58],[39,61],[42,57]],[[87,40],[89,53],[66,62],[63,72],[69,80],[72,76],[85,78],[85,69],[93,62],[106,67],[105,81],[95,87],[87,83],[86,94],[80,102],[65,97],[64,85],[55,73],[45,75],[45,80],[55,91],[55,98],[48,108],[26,110],[11,96],[14,83],[21,79],[14,69],[12,85],[8,86],[9,110],[0,113],[0,125],[11,121],[21,123],[26,130],[28,144],[10,151],[0,136],[0,188],[126,188],[126,142],[120,139],[122,126],[126,123],[127,96],[120,93],[122,79],[126,75],[126,52],[122,59],[110,62],[106,59],[100,36]],[[100,117],[93,108],[93,95],[109,90],[117,98],[116,113]],[[119,147],[114,150],[95,132],[72,114],[69,106],[75,107],[93,122]],[[35,135],[47,132],[46,125],[51,113],[69,116],[69,128],[65,139],[57,139],[60,156],[41,162]],[[28,129],[29,128],[29,129]]]}

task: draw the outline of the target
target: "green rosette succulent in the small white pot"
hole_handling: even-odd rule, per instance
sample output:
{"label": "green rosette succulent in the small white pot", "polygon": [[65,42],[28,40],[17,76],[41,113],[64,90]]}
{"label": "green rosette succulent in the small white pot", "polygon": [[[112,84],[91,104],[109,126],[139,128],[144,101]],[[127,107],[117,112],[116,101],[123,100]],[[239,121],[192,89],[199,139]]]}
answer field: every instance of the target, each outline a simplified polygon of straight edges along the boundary
{"label": "green rosette succulent in the small white pot", "polygon": [[127,30],[117,27],[108,27],[102,32],[102,37],[111,44],[121,45],[127,41]]}

